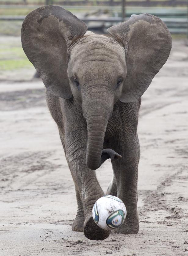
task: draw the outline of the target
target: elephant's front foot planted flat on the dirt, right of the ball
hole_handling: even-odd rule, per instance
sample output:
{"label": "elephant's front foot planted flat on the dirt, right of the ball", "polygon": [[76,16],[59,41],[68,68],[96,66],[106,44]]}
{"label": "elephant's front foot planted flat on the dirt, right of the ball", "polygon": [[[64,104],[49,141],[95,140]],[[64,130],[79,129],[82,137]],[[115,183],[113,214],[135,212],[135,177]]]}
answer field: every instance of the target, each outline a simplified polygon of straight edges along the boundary
{"label": "elephant's front foot planted flat on the dirt, right of the ball", "polygon": [[123,225],[117,229],[114,230],[116,234],[137,234],[139,232],[139,220],[138,218],[127,220],[125,219],[125,222]]}

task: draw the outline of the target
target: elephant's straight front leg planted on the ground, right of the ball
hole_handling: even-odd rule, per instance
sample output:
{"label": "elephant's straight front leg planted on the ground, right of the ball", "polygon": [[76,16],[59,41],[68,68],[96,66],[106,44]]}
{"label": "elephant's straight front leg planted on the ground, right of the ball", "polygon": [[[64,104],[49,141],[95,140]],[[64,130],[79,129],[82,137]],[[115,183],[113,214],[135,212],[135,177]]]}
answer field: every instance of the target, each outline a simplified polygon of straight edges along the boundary
{"label": "elephant's straight front leg planted on the ground, right of the ball", "polygon": [[135,234],[139,231],[137,178],[140,148],[137,135],[129,137],[127,141],[124,141],[123,145],[122,140],[119,141],[118,152],[121,152],[122,158],[113,163],[117,196],[124,202],[127,209],[125,222],[116,232]]}

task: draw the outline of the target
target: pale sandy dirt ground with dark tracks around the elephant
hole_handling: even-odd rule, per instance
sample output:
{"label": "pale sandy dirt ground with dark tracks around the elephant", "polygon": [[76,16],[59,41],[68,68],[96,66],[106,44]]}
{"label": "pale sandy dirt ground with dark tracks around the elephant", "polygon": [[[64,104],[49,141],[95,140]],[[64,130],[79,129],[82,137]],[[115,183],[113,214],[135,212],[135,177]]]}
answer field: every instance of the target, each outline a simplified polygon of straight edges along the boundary
{"label": "pale sandy dirt ground with dark tracks around the elephant", "polygon": [[[41,81],[1,81],[0,123],[0,255],[188,255],[188,47],[183,41],[173,42],[167,63],[142,97],[138,234],[91,241],[71,230],[74,184]],[[105,191],[112,178],[109,161],[97,177]]]}

